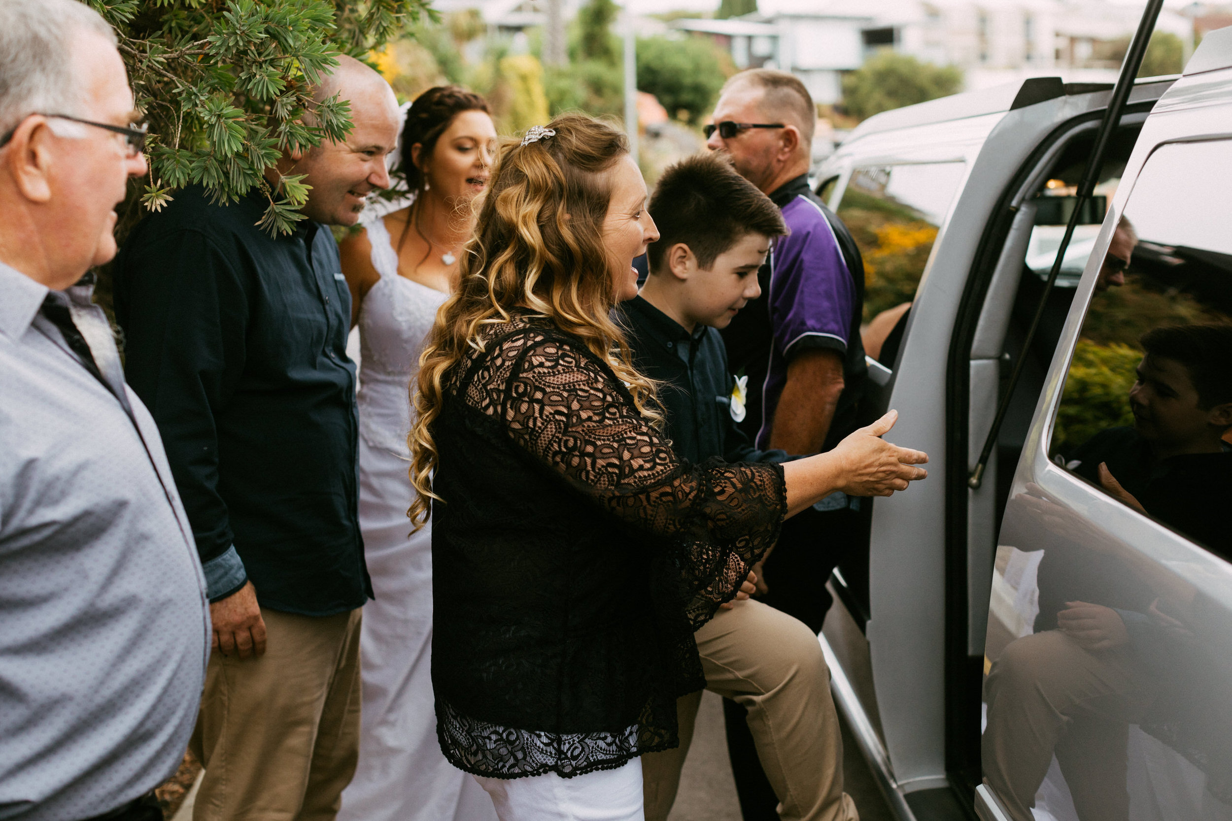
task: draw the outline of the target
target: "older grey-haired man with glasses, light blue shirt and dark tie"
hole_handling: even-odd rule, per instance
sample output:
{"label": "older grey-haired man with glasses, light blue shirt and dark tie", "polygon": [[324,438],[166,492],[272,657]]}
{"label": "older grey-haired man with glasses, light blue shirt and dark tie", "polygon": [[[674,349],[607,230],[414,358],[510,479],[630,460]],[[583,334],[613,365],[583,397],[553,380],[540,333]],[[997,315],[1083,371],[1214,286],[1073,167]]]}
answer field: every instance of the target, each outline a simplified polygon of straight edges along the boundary
{"label": "older grey-haired man with glasses, light blue shirt and dark tie", "polygon": [[0,0],[0,819],[150,821],[192,732],[205,580],[91,302],[145,172],[116,36]]}

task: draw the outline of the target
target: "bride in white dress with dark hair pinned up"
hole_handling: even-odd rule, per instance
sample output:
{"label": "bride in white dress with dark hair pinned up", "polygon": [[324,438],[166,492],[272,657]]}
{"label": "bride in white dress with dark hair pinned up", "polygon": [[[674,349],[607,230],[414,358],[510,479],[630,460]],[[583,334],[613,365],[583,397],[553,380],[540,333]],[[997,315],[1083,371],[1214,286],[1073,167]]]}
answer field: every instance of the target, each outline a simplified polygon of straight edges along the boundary
{"label": "bride in white dress with dark hair pinned up", "polygon": [[483,97],[457,86],[407,112],[402,164],[414,197],[365,214],[341,242],[360,326],[360,527],[376,601],[363,608],[363,726],[340,821],[495,820],[492,800],[441,753],[432,711],[432,537],[410,533],[408,385],[424,337],[456,286],[471,201],[488,183],[496,129]]}

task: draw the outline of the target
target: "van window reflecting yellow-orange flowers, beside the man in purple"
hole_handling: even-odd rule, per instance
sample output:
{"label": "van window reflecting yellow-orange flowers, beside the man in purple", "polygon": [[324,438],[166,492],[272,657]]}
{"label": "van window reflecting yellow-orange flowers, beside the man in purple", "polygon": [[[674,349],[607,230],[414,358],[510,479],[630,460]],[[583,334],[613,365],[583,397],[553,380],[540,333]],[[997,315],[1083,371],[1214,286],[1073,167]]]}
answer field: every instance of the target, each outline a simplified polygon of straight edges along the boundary
{"label": "van window reflecting yellow-orange flowers, beside the man in purple", "polygon": [[838,214],[864,256],[864,321],[915,298],[965,162],[876,165],[851,172]]}

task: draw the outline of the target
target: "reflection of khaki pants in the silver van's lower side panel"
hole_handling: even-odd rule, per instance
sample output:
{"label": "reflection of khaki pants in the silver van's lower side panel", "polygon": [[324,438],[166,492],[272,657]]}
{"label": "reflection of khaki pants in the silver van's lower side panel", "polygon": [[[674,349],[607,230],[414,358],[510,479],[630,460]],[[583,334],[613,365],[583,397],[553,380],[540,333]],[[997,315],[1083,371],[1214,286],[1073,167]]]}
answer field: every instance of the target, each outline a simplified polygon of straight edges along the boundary
{"label": "reflection of khaki pants in the silver van's lower side panel", "polygon": [[1129,647],[1084,650],[1061,630],[1011,641],[984,682],[984,779],[1015,821],[1056,755],[1082,821],[1130,816],[1129,725],[1156,687]]}

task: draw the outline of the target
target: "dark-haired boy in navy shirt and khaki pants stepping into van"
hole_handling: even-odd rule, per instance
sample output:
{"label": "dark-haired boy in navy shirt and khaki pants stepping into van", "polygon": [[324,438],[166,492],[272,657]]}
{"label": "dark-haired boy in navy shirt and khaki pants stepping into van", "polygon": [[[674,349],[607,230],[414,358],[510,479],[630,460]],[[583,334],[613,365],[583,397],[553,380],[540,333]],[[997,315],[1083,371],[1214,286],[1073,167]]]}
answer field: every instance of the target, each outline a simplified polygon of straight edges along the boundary
{"label": "dark-haired boy in navy shirt and khaki pants stepping into van", "polygon": [[[744,384],[727,370],[718,330],[760,293],[758,268],[786,233],[779,208],[721,156],[690,158],[664,172],[650,198],[660,239],[649,276],[620,308],[642,373],[662,383],[667,435],[690,462],[782,460],[756,451],[736,422]],[[748,710],[782,819],[855,821],[843,793],[843,742],[817,636],[758,601],[737,602],[697,630],[707,689]],[[664,821],[692,740],[701,693],[680,699],[680,746],[643,756],[647,821]]]}

